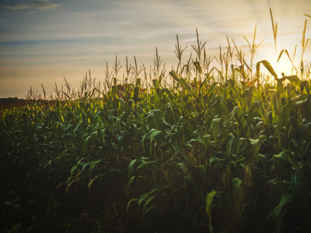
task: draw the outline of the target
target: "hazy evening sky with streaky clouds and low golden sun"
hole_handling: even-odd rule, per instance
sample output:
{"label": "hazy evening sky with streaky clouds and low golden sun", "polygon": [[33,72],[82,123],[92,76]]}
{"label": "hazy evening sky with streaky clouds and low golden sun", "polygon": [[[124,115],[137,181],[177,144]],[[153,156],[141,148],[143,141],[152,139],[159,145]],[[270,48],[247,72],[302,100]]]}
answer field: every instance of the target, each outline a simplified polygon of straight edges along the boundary
{"label": "hazy evening sky with streaky clouds and low golden sun", "polygon": [[[155,47],[162,67],[176,67],[176,34],[186,63],[191,45],[196,45],[196,29],[207,56],[219,57],[219,46],[226,50],[227,39],[242,49],[246,62],[250,50],[244,36],[255,44],[264,40],[254,61],[268,60],[278,73],[290,66],[283,56],[276,64],[276,51],[270,7],[277,22],[277,53],[297,45],[300,59],[301,38],[308,18],[306,39],[311,37],[311,0],[1,0],[0,1],[0,98],[23,98],[32,86],[41,83],[52,91],[64,77],[77,88],[86,72],[104,81],[106,62],[112,71],[116,55],[138,67],[153,66]],[[311,62],[311,42],[304,59]],[[235,58],[233,60],[235,64]],[[237,63],[238,64],[238,63]],[[214,59],[212,66],[218,66]],[[286,70],[285,70],[286,71]],[[286,71],[287,74],[289,71]]]}

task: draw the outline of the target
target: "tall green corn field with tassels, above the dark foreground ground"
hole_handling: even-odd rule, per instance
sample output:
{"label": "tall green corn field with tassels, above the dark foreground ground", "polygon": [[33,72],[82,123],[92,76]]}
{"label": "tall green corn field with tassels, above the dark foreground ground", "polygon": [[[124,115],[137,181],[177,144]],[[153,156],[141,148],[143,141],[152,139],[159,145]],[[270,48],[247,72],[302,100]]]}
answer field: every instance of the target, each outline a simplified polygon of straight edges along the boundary
{"label": "tall green corn field with tassels, above the dark foreground ground", "polygon": [[35,167],[31,176],[57,181],[64,193],[118,185],[141,224],[309,232],[311,64],[302,55],[296,67],[282,50],[293,74],[277,77],[266,60],[246,63],[229,40],[215,57],[220,68],[209,67],[199,38],[192,48],[195,60],[182,64],[177,37],[178,66],[167,73],[156,53],[150,72],[135,58],[117,84],[116,57],[102,85],[89,73],[77,91],[67,81],[49,98],[30,90],[26,98],[40,101],[1,111],[1,159]]}

